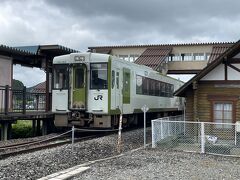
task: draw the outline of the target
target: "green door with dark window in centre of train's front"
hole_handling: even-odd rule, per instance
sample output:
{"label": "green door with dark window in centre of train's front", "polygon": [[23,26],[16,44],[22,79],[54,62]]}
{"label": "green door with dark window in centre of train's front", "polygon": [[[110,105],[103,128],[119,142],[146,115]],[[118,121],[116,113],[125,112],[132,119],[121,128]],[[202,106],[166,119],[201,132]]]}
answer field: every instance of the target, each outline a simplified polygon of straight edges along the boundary
{"label": "green door with dark window in centre of train's front", "polygon": [[72,77],[72,109],[86,108],[86,73],[87,68],[84,64],[73,66]]}

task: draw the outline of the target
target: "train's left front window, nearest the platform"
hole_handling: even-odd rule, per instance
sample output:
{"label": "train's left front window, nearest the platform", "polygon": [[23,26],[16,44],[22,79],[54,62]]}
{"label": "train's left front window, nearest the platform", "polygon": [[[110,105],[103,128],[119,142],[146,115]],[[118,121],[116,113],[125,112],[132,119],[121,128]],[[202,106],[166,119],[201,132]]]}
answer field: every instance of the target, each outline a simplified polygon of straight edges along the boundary
{"label": "train's left front window, nearest the platform", "polygon": [[53,88],[67,89],[68,88],[68,70],[67,65],[54,65],[53,68]]}

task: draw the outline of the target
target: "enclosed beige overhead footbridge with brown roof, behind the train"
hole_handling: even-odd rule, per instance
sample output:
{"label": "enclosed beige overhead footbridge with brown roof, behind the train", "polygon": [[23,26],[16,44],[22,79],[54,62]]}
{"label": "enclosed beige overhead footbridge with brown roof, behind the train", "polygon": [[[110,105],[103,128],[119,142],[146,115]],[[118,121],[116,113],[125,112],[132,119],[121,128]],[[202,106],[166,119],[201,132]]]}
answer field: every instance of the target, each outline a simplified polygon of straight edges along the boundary
{"label": "enclosed beige overhead footbridge with brown roof, behind the train", "polygon": [[224,53],[233,42],[88,47],[163,74],[196,74]]}

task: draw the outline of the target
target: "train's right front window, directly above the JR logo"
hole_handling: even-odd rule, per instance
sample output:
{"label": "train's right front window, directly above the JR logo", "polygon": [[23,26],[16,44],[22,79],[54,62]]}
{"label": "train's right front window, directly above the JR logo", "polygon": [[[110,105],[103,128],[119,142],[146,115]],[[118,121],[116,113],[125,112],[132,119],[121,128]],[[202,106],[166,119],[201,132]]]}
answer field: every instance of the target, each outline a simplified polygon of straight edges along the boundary
{"label": "train's right front window, directly above the JR logo", "polygon": [[107,89],[107,63],[92,63],[90,65],[91,71],[91,89]]}

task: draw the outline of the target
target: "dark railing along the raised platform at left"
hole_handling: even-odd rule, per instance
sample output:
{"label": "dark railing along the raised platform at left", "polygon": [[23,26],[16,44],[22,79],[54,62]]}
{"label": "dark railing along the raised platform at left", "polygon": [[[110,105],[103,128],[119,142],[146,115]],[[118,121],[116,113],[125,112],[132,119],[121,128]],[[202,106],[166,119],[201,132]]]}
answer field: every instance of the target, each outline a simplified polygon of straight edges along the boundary
{"label": "dark railing along the raised platform at left", "polygon": [[46,94],[27,92],[23,89],[0,86],[0,114],[22,113],[31,111],[45,111]]}

